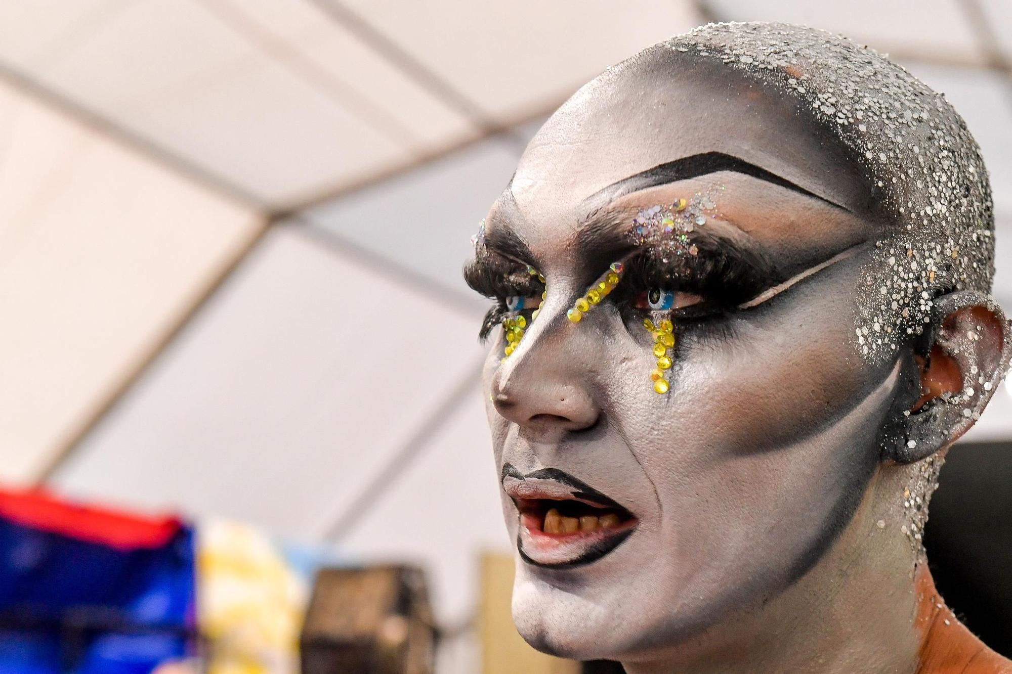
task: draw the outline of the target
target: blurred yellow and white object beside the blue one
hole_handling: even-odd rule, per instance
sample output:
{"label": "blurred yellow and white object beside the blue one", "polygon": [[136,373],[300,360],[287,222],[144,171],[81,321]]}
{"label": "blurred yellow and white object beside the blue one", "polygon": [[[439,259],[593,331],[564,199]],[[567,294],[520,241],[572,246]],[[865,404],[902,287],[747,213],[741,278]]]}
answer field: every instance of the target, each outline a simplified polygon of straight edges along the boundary
{"label": "blurred yellow and white object beside the blue one", "polygon": [[198,624],[208,674],[294,674],[307,589],[271,540],[234,522],[201,524]]}

